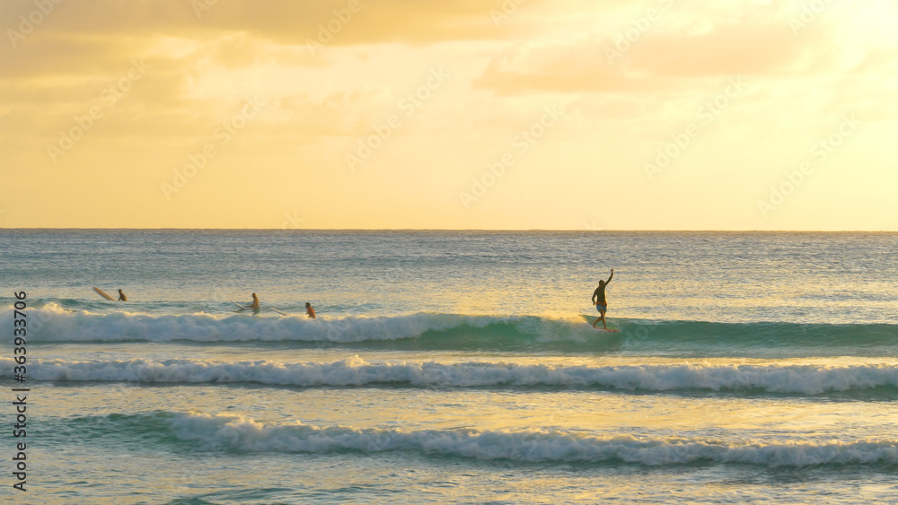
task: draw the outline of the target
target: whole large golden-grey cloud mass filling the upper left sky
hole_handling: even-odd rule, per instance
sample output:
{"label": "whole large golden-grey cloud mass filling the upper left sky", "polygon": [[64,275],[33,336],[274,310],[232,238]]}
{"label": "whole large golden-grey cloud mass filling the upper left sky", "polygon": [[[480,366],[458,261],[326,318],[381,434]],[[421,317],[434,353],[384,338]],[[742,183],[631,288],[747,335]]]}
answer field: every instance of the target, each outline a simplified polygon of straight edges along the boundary
{"label": "whole large golden-grey cloud mass filling the upper left sky", "polygon": [[7,39],[0,41],[0,85],[8,91],[55,86],[66,97],[69,87],[117,78],[133,57],[146,57],[156,75],[189,80],[220,68],[327,68],[347,57],[339,49],[503,39],[510,32],[510,23],[497,26],[490,17],[495,5],[480,0],[47,2],[48,13],[33,0],[0,4]]}

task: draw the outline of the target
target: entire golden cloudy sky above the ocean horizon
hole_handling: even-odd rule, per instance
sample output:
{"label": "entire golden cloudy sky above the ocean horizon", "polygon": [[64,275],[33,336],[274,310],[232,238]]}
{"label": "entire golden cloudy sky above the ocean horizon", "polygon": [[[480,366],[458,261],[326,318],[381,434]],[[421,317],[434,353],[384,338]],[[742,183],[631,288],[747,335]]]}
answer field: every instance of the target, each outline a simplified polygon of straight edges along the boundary
{"label": "entire golden cloudy sky above the ocean horizon", "polygon": [[891,0],[4,0],[0,227],[898,231]]}

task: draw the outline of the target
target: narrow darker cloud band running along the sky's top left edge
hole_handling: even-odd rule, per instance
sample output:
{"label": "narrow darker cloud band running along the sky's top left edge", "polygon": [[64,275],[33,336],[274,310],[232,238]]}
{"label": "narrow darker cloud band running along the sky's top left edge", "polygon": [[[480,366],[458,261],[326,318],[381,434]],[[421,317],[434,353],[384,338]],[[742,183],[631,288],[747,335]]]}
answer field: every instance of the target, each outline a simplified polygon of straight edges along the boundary
{"label": "narrow darker cloud band running along the sky's top left edge", "polygon": [[[79,0],[56,5],[22,44],[41,33],[145,37],[204,30],[244,31],[254,37],[304,44],[330,22],[331,28],[339,25],[334,30],[339,37],[329,42],[334,45],[499,39],[507,29],[490,16],[497,4],[481,0]],[[16,29],[20,16],[28,18],[35,9],[31,1],[7,0],[0,8],[0,26]]]}

